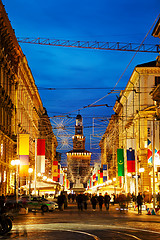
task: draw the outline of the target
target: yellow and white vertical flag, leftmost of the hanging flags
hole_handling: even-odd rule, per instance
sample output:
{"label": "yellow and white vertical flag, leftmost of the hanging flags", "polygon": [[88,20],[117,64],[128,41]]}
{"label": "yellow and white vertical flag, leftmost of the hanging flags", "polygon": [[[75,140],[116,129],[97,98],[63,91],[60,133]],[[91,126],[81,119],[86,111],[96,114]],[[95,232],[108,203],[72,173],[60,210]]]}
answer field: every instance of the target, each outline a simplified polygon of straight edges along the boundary
{"label": "yellow and white vertical flag, leftmost of the hanging flags", "polygon": [[19,176],[28,177],[29,169],[29,134],[18,135],[18,155],[20,160]]}

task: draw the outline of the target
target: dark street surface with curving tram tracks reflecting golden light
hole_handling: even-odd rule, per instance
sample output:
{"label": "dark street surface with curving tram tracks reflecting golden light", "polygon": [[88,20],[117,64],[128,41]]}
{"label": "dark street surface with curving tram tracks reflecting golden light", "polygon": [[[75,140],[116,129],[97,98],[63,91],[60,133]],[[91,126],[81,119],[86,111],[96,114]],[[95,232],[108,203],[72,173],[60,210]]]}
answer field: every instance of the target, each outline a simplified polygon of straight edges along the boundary
{"label": "dark street surface with curving tram tracks reflecting golden light", "polygon": [[78,211],[76,204],[69,204],[64,211],[15,215],[11,232],[0,239],[160,239],[160,216],[146,215],[146,211],[138,215],[134,210],[120,213],[117,207],[92,211],[89,205]]}

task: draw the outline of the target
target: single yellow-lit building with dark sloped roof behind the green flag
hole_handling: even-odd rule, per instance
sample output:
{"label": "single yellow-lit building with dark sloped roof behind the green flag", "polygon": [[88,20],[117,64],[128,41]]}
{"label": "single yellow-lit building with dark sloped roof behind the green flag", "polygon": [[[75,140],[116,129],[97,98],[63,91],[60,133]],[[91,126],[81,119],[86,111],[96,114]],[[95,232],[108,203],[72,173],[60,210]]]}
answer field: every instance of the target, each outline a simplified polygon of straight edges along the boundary
{"label": "single yellow-lit building with dark sloped roof behind the green flag", "polygon": [[[152,164],[149,163],[149,141],[152,135],[152,123],[156,113],[154,101],[150,92],[156,85],[160,76],[158,61],[152,61],[137,65],[129,79],[124,91],[121,92],[119,100],[115,104],[115,112],[120,107],[119,116],[119,146],[126,150],[135,149],[136,173],[140,177],[137,182],[137,191],[152,191]],[[125,154],[125,169],[127,159]],[[141,173],[140,169],[144,172]],[[136,188],[134,180],[135,172],[127,175],[125,170],[126,191],[133,192]],[[138,181],[138,180],[137,180]],[[138,188],[139,187],[139,188]],[[134,191],[135,192],[135,191]]]}

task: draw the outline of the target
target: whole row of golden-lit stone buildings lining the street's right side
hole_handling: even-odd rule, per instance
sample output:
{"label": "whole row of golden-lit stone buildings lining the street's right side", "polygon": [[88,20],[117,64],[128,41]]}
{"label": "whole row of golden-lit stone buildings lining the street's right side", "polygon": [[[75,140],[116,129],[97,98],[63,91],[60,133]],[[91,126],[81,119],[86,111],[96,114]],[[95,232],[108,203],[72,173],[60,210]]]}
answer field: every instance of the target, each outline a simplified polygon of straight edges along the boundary
{"label": "whole row of golden-lit stone buildings lining the street's right side", "polygon": [[[154,37],[160,37],[159,29],[160,18],[152,33]],[[158,56],[155,61],[135,67],[125,90],[121,91],[115,103],[116,117],[111,118],[100,141],[101,163],[108,163],[109,178],[114,174],[113,159],[116,148],[124,149],[125,176],[122,180],[126,192],[142,191],[146,195],[151,195],[154,187],[156,192],[160,189],[159,106],[160,57]],[[115,146],[113,147],[112,144]],[[128,174],[126,151],[129,148],[135,150],[136,172]],[[155,183],[153,183],[153,156]],[[119,184],[118,179],[117,183]]]}

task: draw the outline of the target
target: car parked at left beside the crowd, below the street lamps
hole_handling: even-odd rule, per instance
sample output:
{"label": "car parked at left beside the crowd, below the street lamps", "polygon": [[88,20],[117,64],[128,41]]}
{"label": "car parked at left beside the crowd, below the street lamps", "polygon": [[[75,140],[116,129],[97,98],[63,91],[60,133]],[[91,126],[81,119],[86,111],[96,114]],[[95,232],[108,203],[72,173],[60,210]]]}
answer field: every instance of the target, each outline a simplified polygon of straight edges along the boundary
{"label": "car parked at left beside the crowd, below the street lamps", "polygon": [[21,207],[27,207],[28,210],[42,210],[43,212],[53,211],[58,208],[58,204],[48,201],[40,196],[21,196],[19,199]]}

